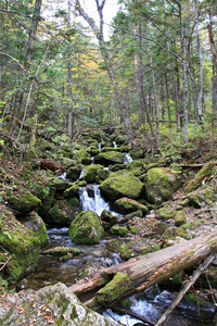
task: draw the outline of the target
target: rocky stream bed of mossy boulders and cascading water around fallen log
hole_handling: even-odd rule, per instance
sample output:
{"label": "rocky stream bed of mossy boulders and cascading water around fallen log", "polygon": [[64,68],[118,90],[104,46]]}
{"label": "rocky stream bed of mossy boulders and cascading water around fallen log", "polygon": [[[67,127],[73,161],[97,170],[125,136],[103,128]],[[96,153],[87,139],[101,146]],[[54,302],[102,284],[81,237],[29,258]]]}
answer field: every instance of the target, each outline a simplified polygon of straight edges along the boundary
{"label": "rocky stream bed of mossy boulders and cascading water around fallen log", "polygon": [[[12,292],[0,298],[0,325],[117,325],[78,308],[65,285],[216,230],[215,162],[177,166],[168,158],[128,146],[125,136],[115,134],[90,133],[82,142],[74,148],[62,145],[59,163],[53,147],[42,142],[40,155],[30,155],[28,163],[1,165],[1,290],[7,279]],[[216,325],[216,265],[214,261],[201,276],[167,325]],[[130,298],[124,306],[155,323],[195,267]],[[82,311],[74,314],[75,324],[72,311],[58,309],[58,299],[44,299],[48,289]],[[36,302],[35,310],[27,302]],[[86,321],[78,317],[82,314],[91,316]],[[104,312],[108,318],[111,314],[124,325],[138,323]]]}

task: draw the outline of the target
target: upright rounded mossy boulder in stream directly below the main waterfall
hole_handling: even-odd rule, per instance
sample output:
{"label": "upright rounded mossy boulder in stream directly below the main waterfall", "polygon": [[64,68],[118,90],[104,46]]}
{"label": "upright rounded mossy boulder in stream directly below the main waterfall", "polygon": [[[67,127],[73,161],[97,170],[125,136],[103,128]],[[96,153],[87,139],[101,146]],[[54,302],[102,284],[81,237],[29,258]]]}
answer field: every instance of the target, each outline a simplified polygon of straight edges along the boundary
{"label": "upright rounded mossy boulder in stream directly below the main waterfall", "polygon": [[68,229],[72,241],[84,244],[99,243],[103,231],[100,220],[93,211],[80,212]]}

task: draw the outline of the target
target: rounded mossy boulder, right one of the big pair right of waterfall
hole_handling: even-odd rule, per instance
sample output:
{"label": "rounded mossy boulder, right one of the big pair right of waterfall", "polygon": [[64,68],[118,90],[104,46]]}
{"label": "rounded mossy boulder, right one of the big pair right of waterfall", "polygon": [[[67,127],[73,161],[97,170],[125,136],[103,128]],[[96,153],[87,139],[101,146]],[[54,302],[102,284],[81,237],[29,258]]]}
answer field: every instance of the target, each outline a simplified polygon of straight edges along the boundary
{"label": "rounded mossy boulder, right one of the big pair right of waterfall", "polygon": [[181,177],[169,168],[154,167],[146,172],[144,187],[148,201],[159,205],[170,199],[181,186]]}

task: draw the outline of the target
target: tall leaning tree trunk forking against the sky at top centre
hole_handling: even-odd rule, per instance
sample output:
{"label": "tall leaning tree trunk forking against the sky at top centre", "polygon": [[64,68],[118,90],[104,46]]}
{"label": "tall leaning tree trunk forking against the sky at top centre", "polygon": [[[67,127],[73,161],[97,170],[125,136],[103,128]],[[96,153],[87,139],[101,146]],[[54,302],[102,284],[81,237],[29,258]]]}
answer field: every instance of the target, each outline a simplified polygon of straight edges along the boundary
{"label": "tall leaning tree trunk forking against the sky at top centre", "polygon": [[106,65],[107,74],[108,74],[110,80],[113,85],[115,97],[116,97],[116,100],[117,100],[117,103],[118,103],[118,106],[119,106],[119,110],[120,110],[120,116],[124,120],[126,133],[128,134],[129,140],[132,140],[133,139],[133,133],[132,133],[131,122],[130,122],[129,115],[128,115],[128,103],[126,103],[124,97],[122,96],[119,85],[118,85],[118,83],[116,80],[116,77],[115,77],[113,64],[110,60],[110,54],[106,50],[105,41],[104,41],[104,35],[103,35],[103,23],[104,23],[103,22],[103,8],[104,8],[104,4],[105,4],[105,1],[106,0],[102,0],[102,2],[100,4],[99,0],[95,0],[98,13],[99,13],[99,16],[100,16],[100,28],[97,26],[94,20],[92,17],[90,17],[85,12],[85,10],[81,8],[79,0],[76,0],[76,10],[84,17],[84,20],[89,24],[89,26],[92,28],[92,30],[93,30],[97,39],[98,39],[101,55],[102,55],[102,58],[104,60],[104,63]]}

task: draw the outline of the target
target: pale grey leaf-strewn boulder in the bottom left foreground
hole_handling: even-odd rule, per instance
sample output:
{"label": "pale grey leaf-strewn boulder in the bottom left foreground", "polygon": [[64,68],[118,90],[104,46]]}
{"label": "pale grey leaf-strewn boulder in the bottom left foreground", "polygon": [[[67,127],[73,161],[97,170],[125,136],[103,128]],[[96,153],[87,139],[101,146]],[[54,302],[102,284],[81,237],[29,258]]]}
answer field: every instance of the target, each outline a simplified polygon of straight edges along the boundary
{"label": "pale grey leaf-strewn boulder in the bottom left foreground", "polygon": [[24,294],[0,322],[1,326],[118,326],[82,305],[64,284]]}

